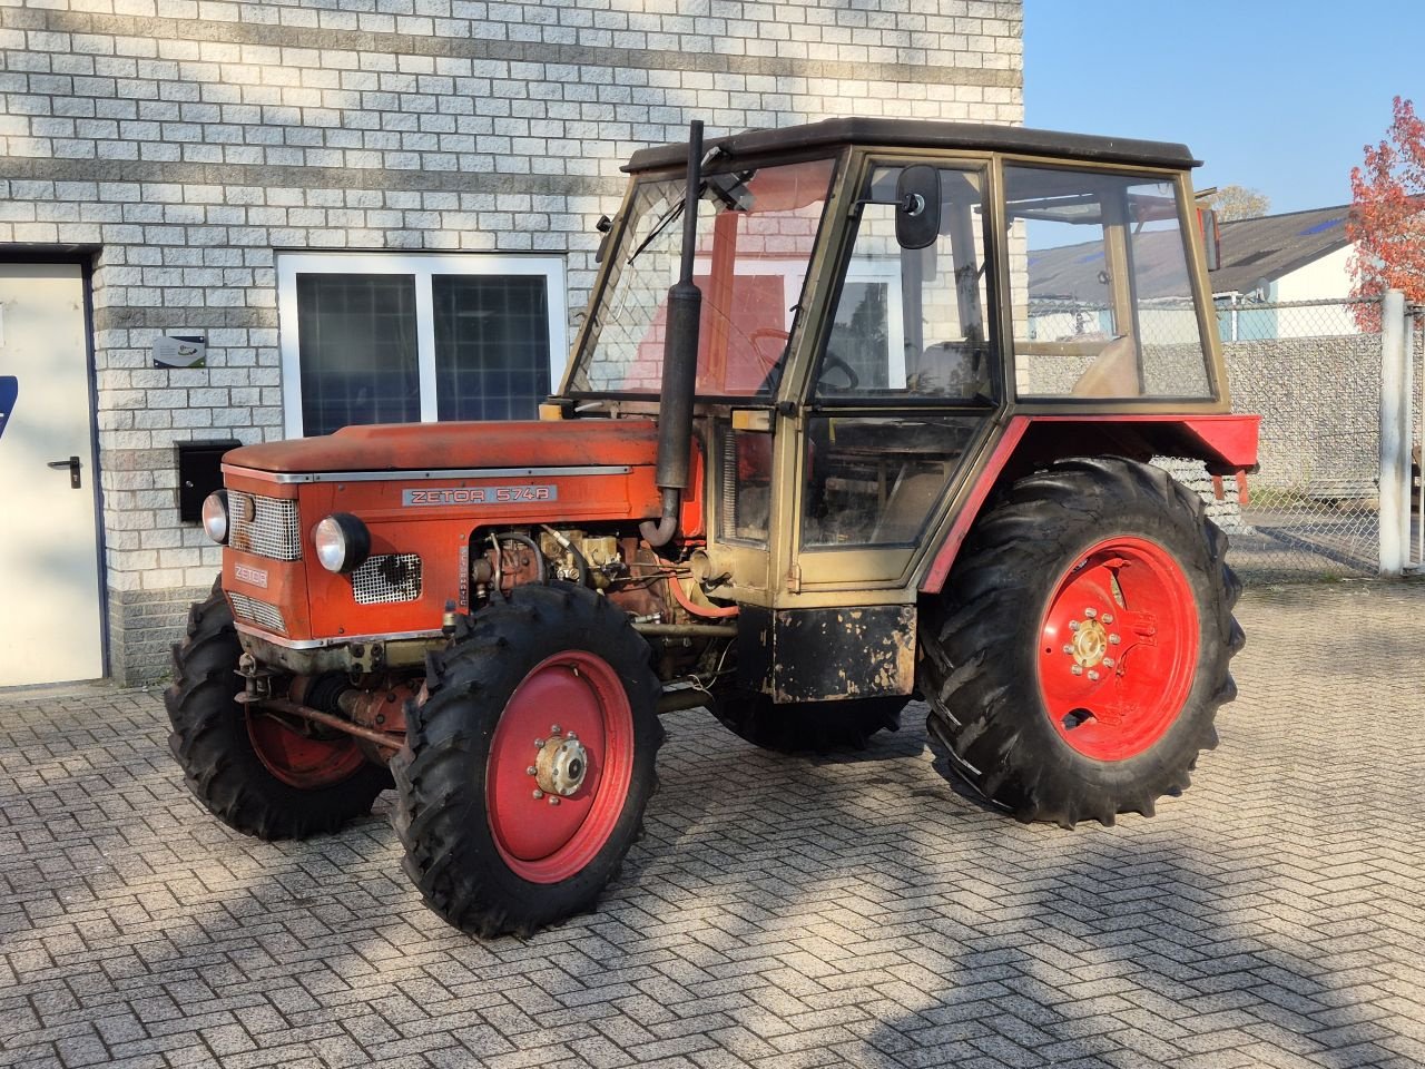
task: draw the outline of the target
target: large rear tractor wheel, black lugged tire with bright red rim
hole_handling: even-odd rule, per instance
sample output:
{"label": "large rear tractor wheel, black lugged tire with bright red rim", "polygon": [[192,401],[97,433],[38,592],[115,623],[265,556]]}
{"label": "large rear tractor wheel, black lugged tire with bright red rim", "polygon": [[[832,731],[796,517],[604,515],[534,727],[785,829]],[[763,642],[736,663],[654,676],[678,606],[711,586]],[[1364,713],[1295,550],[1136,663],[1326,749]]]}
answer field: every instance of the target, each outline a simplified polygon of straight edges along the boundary
{"label": "large rear tractor wheel, black lugged tire with bright red rim", "polygon": [[1227,536],[1166,472],[1070,459],[1016,482],[923,606],[949,770],[1023,822],[1153,815],[1237,694]]}

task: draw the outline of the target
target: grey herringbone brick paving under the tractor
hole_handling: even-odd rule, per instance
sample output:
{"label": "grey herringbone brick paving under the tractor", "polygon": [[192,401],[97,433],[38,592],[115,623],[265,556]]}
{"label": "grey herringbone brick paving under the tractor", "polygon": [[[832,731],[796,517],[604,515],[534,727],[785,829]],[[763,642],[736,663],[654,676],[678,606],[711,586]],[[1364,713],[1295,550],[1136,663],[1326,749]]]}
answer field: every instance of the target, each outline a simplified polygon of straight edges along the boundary
{"label": "grey herringbone brick paving under the tractor", "polygon": [[1425,586],[1258,592],[1193,790],[988,812],[921,717],[774,758],[670,718],[600,912],[445,928],[378,812],[200,810],[157,693],[0,693],[0,1065],[1425,1065]]}

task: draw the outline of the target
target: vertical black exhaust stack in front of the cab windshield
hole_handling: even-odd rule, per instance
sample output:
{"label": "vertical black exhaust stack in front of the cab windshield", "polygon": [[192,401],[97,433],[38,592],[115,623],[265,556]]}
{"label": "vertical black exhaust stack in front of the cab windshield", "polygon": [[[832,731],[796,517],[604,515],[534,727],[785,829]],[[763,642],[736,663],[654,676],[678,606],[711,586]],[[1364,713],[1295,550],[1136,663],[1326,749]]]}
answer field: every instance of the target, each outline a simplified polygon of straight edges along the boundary
{"label": "vertical black exhaust stack in front of the cab windshield", "polygon": [[698,318],[703,291],[693,284],[698,241],[698,200],[703,187],[703,121],[688,128],[688,184],[683,202],[683,264],[668,288],[667,334],[663,339],[663,403],[658,415],[658,469],[663,517],[644,520],[638,533],[650,546],[664,546],[678,530],[678,507],[688,487],[688,449],[693,439],[693,393],[698,371]]}

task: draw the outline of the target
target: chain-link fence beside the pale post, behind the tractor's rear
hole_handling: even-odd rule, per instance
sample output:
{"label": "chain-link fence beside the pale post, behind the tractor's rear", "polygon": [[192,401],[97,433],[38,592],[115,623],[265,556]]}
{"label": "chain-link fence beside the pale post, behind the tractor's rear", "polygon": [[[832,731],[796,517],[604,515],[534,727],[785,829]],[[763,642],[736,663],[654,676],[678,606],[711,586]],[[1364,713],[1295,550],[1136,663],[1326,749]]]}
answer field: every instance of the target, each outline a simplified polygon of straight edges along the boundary
{"label": "chain-link fence beside the pale post, behind the tractor's rear", "polygon": [[[1425,345],[1414,324],[1419,386]],[[1233,406],[1261,416],[1260,470],[1238,482],[1164,466],[1208,502],[1248,582],[1377,574],[1381,305],[1240,304],[1220,309],[1218,329]],[[1419,405],[1412,426],[1418,465]]]}

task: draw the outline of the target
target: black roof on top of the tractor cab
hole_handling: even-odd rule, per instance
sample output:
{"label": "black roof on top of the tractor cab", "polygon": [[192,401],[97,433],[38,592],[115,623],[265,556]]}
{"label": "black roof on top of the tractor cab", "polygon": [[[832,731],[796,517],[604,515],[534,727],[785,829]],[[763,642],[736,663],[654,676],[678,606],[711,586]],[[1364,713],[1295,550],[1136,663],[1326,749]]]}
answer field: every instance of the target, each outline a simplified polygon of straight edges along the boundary
{"label": "black roof on top of the tractor cab", "polygon": [[[704,147],[728,157],[787,153],[801,148],[839,145],[884,148],[970,148],[990,153],[1050,155],[1090,162],[1146,164],[1186,170],[1201,165],[1187,145],[1171,141],[1139,141],[1127,137],[1064,134],[1053,130],[992,125],[988,123],[940,123],[906,118],[828,118],[821,123],[748,130],[730,137],[708,138]],[[640,148],[624,165],[638,172],[687,164],[688,145],[670,144]]]}

